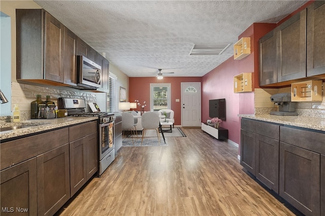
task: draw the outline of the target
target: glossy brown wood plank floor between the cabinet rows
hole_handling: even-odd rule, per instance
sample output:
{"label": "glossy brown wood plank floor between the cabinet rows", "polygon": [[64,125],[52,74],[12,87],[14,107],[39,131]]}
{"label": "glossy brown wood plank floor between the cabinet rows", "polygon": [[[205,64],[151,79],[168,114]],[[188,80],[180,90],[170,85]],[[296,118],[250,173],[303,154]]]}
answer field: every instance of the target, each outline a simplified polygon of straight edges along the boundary
{"label": "glossy brown wood plank floor between the cabinet rows", "polygon": [[121,147],[57,215],[295,215],[247,175],[237,147],[183,131],[168,146]]}

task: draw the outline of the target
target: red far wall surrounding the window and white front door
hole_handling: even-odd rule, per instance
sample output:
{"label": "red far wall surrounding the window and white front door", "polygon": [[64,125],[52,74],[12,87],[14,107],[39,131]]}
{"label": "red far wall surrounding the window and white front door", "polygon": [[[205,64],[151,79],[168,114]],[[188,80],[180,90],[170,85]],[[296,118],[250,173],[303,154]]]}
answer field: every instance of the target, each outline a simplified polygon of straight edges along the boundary
{"label": "red far wall surrounding the window and white front door", "polygon": [[[171,109],[174,110],[175,125],[181,125],[181,82],[201,82],[202,77],[129,77],[129,102],[146,101],[145,111],[150,111],[150,83],[171,83]],[[179,102],[176,102],[179,99]],[[138,109],[139,110],[139,109]]]}

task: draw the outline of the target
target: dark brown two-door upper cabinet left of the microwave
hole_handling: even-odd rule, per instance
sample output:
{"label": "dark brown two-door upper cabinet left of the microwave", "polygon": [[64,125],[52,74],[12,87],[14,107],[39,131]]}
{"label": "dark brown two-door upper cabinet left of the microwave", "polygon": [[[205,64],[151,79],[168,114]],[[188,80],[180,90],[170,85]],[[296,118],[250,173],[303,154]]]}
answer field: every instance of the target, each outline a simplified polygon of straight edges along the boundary
{"label": "dark brown two-door upper cabinet left of the microwave", "polygon": [[17,80],[76,85],[77,37],[43,9],[17,9]]}

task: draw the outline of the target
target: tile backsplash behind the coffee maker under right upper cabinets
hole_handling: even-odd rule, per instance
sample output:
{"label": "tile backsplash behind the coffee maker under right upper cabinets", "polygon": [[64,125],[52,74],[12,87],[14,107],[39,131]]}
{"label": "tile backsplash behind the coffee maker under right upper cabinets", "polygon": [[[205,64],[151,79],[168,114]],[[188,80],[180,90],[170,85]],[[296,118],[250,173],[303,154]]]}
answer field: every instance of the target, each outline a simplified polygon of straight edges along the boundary
{"label": "tile backsplash behind the coffee maker under right upper cabinets", "polygon": [[[266,114],[277,111],[278,106],[271,102],[270,97],[274,94],[291,92],[291,87],[285,88],[255,88],[254,108],[255,114]],[[296,112],[307,117],[325,118],[325,82],[322,86],[322,102],[296,102]]]}

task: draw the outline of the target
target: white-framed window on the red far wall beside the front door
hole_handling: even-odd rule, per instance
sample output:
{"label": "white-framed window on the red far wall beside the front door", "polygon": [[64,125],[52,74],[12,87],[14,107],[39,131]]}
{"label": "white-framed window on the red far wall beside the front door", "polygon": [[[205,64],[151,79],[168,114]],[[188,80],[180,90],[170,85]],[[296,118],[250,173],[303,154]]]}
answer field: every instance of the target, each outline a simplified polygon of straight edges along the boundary
{"label": "white-framed window on the red far wall beside the front door", "polygon": [[171,109],[171,84],[150,84],[150,110]]}

